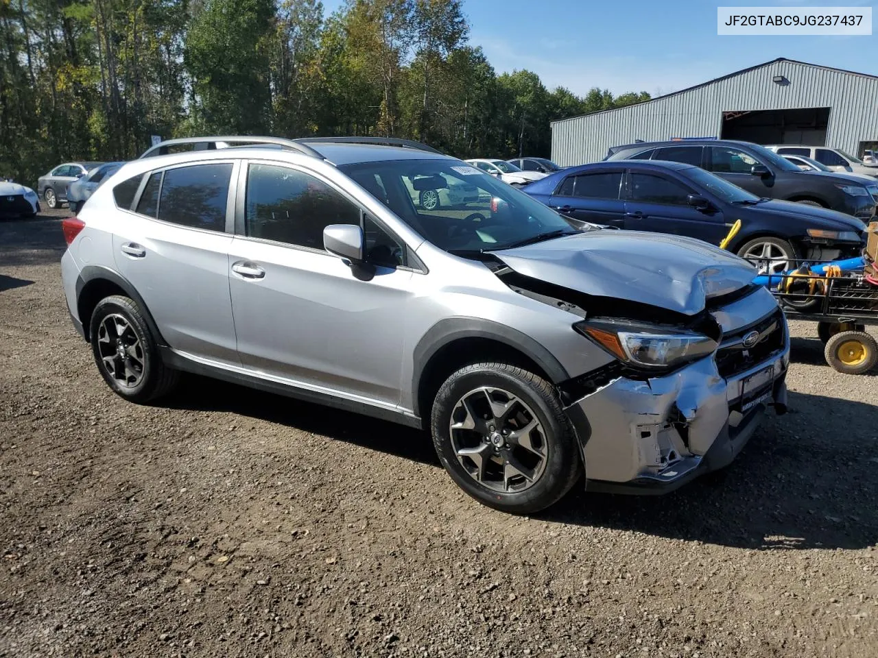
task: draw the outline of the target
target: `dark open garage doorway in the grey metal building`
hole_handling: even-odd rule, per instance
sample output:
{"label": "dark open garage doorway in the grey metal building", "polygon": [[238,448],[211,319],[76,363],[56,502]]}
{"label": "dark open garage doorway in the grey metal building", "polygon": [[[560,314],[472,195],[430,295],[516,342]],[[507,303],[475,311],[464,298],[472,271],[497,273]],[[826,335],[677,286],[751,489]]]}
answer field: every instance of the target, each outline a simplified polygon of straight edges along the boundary
{"label": "dark open garage doorway in the grey metal building", "polygon": [[723,139],[757,144],[826,146],[828,107],[723,112]]}

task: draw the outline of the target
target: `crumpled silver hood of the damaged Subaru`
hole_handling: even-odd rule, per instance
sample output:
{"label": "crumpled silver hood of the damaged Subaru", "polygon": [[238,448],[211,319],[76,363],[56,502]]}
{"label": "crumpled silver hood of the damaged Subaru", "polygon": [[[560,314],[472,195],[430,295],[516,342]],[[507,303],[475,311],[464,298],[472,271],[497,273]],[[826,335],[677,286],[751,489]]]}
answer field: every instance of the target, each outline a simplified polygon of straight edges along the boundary
{"label": "crumpled silver hood of the damaged Subaru", "polygon": [[686,315],[756,275],[747,261],[701,240],[639,231],[579,233],[493,255],[546,283]]}

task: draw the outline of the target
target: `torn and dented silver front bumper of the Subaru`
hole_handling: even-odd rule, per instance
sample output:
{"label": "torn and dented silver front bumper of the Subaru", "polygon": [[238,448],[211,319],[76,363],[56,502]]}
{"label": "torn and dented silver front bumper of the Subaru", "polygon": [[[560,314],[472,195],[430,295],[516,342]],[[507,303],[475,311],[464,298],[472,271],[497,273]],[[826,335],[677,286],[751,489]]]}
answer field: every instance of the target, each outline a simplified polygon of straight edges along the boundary
{"label": "torn and dented silver front bumper of the Subaru", "polygon": [[769,405],[786,411],[785,329],[774,354],[732,375],[721,375],[709,357],[671,375],[642,381],[618,376],[567,405],[587,488],[665,493],[729,464]]}

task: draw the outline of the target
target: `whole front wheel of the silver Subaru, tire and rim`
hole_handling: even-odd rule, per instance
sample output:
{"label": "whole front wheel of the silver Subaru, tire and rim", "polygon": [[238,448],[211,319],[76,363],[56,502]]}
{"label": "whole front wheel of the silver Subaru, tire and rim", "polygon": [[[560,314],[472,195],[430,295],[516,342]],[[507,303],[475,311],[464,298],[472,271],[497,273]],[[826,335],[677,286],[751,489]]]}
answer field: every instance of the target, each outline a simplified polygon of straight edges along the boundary
{"label": "whole front wheel of the silver Subaru, tire and rim", "polygon": [[451,479],[496,510],[543,510],[583,472],[579,440],[551,384],[507,363],[457,370],[436,394],[430,426]]}

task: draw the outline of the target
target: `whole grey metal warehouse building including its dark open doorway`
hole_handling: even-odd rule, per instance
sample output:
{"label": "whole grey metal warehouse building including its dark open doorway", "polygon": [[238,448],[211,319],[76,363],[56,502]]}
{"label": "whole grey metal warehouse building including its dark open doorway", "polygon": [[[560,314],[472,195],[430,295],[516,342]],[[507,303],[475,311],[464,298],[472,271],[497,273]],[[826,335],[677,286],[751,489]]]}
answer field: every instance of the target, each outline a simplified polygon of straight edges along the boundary
{"label": "whole grey metal warehouse building including its dark open doorway", "polygon": [[745,139],[862,155],[878,148],[878,76],[783,58],[617,110],[553,121],[552,160],[602,160],[643,139]]}

